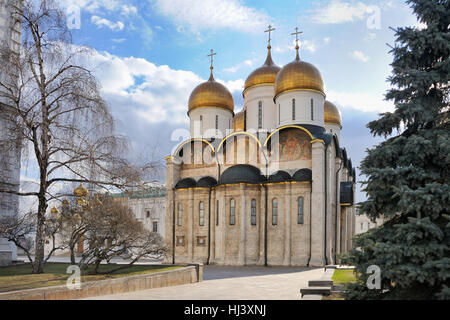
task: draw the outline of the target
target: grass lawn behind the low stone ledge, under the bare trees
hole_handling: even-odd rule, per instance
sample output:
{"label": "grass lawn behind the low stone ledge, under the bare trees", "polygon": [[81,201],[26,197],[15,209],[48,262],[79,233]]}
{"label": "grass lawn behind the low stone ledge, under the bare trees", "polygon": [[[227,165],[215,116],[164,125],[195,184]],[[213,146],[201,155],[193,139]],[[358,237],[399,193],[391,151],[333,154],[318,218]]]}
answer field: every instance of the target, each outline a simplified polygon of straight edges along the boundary
{"label": "grass lawn behind the low stone ledge, under the bare trees", "polygon": [[[66,284],[70,274],[66,273],[68,263],[47,263],[44,274],[31,274],[31,264],[0,268],[0,292],[59,286]],[[118,265],[101,265],[100,272],[117,268]],[[88,274],[90,269],[81,271],[81,282],[119,278],[137,274],[161,272],[180,267],[162,265],[133,265],[112,274]]]}

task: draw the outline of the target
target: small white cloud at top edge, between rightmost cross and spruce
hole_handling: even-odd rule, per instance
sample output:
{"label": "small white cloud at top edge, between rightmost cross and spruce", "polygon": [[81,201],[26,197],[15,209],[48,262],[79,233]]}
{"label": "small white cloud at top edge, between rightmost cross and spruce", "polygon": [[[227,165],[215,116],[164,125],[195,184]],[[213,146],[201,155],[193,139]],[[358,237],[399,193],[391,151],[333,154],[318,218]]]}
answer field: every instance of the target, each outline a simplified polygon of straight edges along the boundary
{"label": "small white cloud at top edge, between rightmost cross and spruce", "polygon": [[348,3],[341,0],[331,0],[328,5],[314,10],[312,20],[321,24],[337,24],[364,19],[370,12],[370,6],[362,3]]}

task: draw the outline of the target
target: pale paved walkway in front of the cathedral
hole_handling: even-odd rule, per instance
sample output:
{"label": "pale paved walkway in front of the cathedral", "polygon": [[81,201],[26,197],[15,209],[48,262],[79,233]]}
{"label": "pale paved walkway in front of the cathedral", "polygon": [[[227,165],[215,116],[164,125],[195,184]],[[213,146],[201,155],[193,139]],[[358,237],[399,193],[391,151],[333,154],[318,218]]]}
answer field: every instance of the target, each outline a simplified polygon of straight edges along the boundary
{"label": "pale paved walkway in front of the cathedral", "polygon": [[[300,300],[300,288],[323,268],[205,266],[203,282],[92,297],[92,300]],[[321,295],[303,300],[320,300]]]}

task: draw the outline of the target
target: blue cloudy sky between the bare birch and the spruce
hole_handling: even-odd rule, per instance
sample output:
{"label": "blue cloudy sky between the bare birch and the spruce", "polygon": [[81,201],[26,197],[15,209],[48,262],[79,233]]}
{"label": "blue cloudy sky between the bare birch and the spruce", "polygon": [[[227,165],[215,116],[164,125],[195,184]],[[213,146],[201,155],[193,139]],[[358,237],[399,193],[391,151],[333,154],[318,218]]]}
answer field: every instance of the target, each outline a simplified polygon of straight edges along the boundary
{"label": "blue cloudy sky between the bare birch and the spruce", "polygon": [[180,142],[189,95],[209,76],[211,48],[216,79],[232,92],[235,111],[242,109],[244,81],[265,60],[271,24],[280,66],[295,57],[290,34],[303,31],[301,58],[321,71],[327,99],[343,116],[342,144],[358,166],[377,142],[367,122],[393,108],[384,101],[389,27],[418,25],[400,0],[60,1],[72,17],[73,42],[94,49],[90,64],[117,128],[142,159],[163,158]]}

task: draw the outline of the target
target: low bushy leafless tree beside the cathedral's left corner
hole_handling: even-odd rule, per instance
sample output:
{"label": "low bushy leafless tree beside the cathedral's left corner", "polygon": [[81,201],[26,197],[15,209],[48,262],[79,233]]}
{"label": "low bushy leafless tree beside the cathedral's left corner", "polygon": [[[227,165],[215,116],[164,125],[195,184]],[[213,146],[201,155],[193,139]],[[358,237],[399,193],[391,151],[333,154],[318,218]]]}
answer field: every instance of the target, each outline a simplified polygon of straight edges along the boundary
{"label": "low bushy leafless tree beside the cathedral's left corner", "polygon": [[85,249],[80,265],[93,265],[98,273],[102,261],[113,258],[131,259],[109,273],[124,269],[141,258],[161,258],[167,252],[164,240],[156,232],[146,230],[129,207],[111,197],[102,197],[86,215]]}

